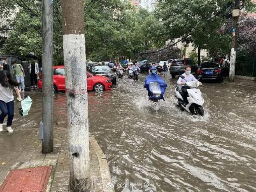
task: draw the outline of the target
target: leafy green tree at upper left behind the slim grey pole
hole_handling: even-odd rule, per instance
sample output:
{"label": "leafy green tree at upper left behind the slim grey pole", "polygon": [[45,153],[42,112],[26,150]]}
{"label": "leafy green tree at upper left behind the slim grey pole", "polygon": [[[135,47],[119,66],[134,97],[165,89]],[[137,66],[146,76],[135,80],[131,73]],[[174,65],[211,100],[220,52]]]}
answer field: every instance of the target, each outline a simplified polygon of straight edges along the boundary
{"label": "leafy green tree at upper left behind the slim grey pole", "polygon": [[[8,38],[1,51],[26,57],[34,52],[41,58],[42,47],[42,14],[41,1],[34,0],[1,0],[0,18],[6,22],[0,27],[0,32],[8,31]],[[54,61],[62,62],[62,23],[60,16],[60,1],[54,1]],[[56,64],[56,63],[55,63]]]}

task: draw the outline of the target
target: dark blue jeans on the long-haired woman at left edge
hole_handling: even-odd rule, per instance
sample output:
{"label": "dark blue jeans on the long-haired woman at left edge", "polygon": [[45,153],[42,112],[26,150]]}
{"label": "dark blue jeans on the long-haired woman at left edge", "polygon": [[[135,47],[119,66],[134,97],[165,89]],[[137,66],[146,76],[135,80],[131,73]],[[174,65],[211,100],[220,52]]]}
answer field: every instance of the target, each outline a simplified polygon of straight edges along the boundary
{"label": "dark blue jeans on the long-haired woman at left edge", "polygon": [[4,122],[4,118],[8,115],[7,119],[7,127],[12,126],[12,120],[14,117],[14,101],[10,101],[8,103],[0,100],[0,110],[2,113],[0,114],[0,124]]}

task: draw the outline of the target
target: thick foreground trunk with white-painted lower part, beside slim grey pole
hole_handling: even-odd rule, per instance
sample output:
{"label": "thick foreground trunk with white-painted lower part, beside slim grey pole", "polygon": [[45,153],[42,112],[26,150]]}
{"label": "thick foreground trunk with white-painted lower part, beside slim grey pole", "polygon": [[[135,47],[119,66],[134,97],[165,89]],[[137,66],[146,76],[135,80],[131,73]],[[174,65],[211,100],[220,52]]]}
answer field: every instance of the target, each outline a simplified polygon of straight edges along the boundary
{"label": "thick foreground trunk with white-painted lower part, beside slim grey pole", "polygon": [[68,113],[70,189],[90,190],[89,124],[84,39],[84,0],[62,0]]}

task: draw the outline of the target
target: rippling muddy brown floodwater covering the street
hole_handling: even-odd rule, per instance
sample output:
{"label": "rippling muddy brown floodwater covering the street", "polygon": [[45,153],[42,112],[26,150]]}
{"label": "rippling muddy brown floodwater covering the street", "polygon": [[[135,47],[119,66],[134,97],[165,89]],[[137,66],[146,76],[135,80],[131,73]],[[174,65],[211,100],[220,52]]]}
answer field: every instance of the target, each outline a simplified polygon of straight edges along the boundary
{"label": "rippling muddy brown floodwater covering the street", "polygon": [[[137,83],[125,77],[111,91],[88,93],[90,133],[106,154],[112,180],[149,184],[133,192],[255,192],[255,83],[204,83],[205,116],[200,117],[177,108],[177,79],[162,77],[166,101],[157,105],[148,101],[144,74]],[[33,108],[23,121],[36,125],[41,96],[29,95]],[[63,127],[65,102],[64,93],[54,96],[54,119]],[[116,186],[116,191],[130,190]]]}

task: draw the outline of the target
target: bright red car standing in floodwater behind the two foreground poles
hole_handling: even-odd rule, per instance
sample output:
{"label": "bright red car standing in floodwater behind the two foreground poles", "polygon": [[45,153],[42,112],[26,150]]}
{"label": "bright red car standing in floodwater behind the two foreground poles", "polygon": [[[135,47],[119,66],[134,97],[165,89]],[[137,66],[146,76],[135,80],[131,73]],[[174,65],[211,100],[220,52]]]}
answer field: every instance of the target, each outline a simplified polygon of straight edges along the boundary
{"label": "bright red car standing in floodwater behind the two foreground poles", "polygon": [[[54,93],[66,90],[65,86],[65,70],[64,66],[53,67],[53,85]],[[104,76],[94,75],[87,72],[87,90],[94,90],[101,92],[103,90],[110,90],[112,82],[109,78]],[[38,88],[42,89],[42,79],[38,81]]]}

